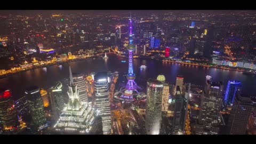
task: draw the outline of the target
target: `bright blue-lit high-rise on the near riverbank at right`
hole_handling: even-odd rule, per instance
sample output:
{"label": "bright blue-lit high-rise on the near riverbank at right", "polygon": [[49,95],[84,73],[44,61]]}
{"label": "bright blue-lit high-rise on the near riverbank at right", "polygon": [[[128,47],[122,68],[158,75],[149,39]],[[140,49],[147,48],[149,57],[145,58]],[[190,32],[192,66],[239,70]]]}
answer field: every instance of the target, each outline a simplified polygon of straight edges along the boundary
{"label": "bright blue-lit high-rise on the near riverbank at right", "polygon": [[224,101],[227,105],[234,102],[236,92],[241,90],[241,82],[239,81],[228,81]]}

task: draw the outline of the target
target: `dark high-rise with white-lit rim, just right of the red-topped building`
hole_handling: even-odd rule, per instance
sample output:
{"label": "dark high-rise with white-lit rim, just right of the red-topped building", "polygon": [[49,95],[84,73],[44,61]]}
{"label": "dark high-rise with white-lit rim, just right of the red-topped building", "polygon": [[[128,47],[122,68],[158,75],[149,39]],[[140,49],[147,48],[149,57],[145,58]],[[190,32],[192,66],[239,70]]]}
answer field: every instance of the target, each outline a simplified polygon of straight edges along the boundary
{"label": "dark high-rise with white-lit rim, just right of the red-topped building", "polygon": [[39,93],[39,88],[37,86],[30,86],[25,90],[25,94],[27,97],[33,124],[41,129],[46,124],[46,117],[41,94]]}

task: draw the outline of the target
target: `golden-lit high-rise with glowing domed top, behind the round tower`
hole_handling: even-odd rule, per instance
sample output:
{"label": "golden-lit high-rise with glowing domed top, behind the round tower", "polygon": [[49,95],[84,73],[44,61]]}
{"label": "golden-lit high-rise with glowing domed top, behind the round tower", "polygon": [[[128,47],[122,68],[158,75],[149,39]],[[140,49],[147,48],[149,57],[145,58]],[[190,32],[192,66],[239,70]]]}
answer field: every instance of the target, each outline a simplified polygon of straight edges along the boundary
{"label": "golden-lit high-rise with glowing domed top, behind the round tower", "polygon": [[163,83],[163,94],[162,94],[162,112],[164,114],[167,114],[168,107],[169,107],[169,95],[170,95],[170,86],[168,83],[165,82],[165,76],[164,75],[158,75],[156,78],[158,81],[161,81]]}

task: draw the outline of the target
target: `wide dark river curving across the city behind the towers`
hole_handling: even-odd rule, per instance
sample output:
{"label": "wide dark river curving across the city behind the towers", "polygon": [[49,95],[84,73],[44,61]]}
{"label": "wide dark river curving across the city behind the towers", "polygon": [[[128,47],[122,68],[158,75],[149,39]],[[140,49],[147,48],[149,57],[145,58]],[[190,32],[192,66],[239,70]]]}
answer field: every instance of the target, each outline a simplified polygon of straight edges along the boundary
{"label": "wide dark river curving across the city behind the towers", "polygon": [[[104,70],[118,71],[119,73],[127,73],[128,63],[122,63],[121,60],[125,58],[118,58],[114,54],[109,54],[108,59],[93,60],[86,59],[82,61],[75,61],[70,63],[63,63],[62,67],[53,65],[47,67],[47,70],[43,68],[37,68],[34,70],[24,71],[22,73],[14,74],[9,77],[0,79],[2,88],[10,89],[12,91],[14,99],[18,99],[24,95],[24,90],[30,85],[37,85],[40,88],[47,89],[53,86],[55,82],[62,81],[69,77],[69,65],[73,73],[91,73]],[[134,73],[136,74],[135,81],[139,85],[146,85],[145,79],[156,78],[157,75],[163,74],[166,77],[166,81],[172,84],[175,83],[177,75],[184,77],[185,83],[193,83],[196,85],[204,85],[205,76],[210,75],[213,77],[213,81],[222,81],[225,84],[225,88],[229,79],[235,79],[242,82],[242,92],[256,95],[256,77],[243,75],[239,71],[231,71],[215,68],[202,68],[196,66],[185,66],[178,63],[162,63],[157,60],[141,60],[134,59]],[[140,69],[141,65],[146,65],[146,69]]]}

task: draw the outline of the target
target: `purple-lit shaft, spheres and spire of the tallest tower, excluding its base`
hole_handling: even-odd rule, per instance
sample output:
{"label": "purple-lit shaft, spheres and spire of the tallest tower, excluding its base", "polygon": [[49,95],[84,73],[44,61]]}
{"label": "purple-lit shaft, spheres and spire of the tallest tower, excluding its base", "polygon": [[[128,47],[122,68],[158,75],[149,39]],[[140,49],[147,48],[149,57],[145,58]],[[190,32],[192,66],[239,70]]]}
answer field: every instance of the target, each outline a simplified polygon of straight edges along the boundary
{"label": "purple-lit shaft, spheres and spire of the tallest tower, excluding its base", "polygon": [[125,86],[126,90],[133,91],[137,89],[137,84],[134,82],[135,74],[133,73],[133,51],[135,50],[134,45],[132,44],[132,17],[130,16],[130,33],[129,33],[129,44],[127,46],[129,51],[129,65],[128,65],[128,74],[127,74],[127,84]]}

